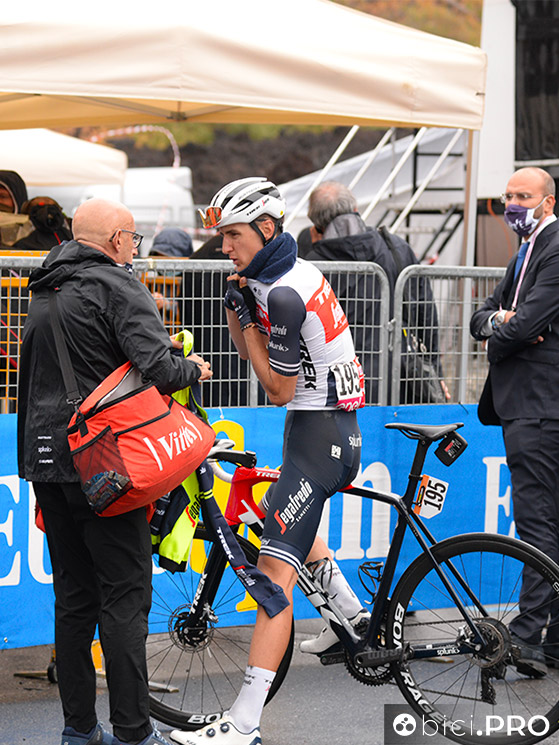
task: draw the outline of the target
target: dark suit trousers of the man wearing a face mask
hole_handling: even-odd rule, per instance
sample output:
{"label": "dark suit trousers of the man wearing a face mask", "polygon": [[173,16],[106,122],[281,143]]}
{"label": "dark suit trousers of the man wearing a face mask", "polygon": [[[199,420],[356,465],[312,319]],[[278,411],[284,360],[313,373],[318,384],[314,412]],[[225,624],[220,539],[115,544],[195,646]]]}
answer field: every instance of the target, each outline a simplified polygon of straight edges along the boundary
{"label": "dark suit trousers of the man wearing a face mask", "polygon": [[[519,537],[559,564],[559,420],[503,421],[511,474],[514,521]],[[559,608],[546,604],[549,592],[529,569],[520,593],[522,616],[510,628],[522,639],[539,643],[549,623],[547,641],[559,642]]]}

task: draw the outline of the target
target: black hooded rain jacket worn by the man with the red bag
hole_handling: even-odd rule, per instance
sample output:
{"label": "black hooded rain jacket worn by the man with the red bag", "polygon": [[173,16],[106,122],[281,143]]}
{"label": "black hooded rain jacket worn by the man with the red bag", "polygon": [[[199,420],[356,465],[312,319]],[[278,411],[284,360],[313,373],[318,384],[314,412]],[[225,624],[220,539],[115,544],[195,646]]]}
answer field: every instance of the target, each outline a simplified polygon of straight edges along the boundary
{"label": "black hooded rain jacket worn by the man with the red bag", "polygon": [[[32,272],[18,390],[18,467],[28,481],[78,481],[66,427],[73,408],[52,332],[48,297],[58,288],[58,315],[79,391],[85,399],[130,360],[162,393],[195,383],[199,367],[173,353],[148,289],[101,251],[70,241]],[[175,350],[176,351],[176,350]]]}

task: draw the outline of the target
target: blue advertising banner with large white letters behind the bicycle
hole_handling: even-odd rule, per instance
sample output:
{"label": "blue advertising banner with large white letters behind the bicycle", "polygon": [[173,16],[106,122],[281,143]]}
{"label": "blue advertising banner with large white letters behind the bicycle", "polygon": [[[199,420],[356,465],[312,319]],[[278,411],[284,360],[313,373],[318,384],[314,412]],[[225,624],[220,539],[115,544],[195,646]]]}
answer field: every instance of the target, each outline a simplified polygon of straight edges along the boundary
{"label": "blue advertising banner with large white letters behind the bicycle", "polygon": [[[253,450],[259,466],[281,465],[285,409],[210,409],[216,434]],[[499,427],[483,427],[475,406],[366,407],[358,412],[363,435],[361,469],[356,484],[403,494],[415,453],[415,442],[400,432],[386,430],[388,422],[420,424],[463,422],[468,441],[464,454],[444,466],[431,448],[424,473],[449,484],[444,509],[428,520],[437,540],[464,532],[487,531],[514,535],[510,477]],[[0,649],[51,644],[54,639],[52,573],[44,534],[35,526],[35,498],[31,484],[17,476],[16,415],[0,416]],[[231,466],[225,466],[231,470]],[[228,485],[216,480],[215,495],[225,507]],[[258,493],[258,492],[257,492]],[[262,492],[263,493],[263,492]],[[260,494],[258,494],[260,496]],[[323,512],[320,534],[358,595],[358,568],[386,557],[396,515],[380,502],[336,494]],[[100,518],[102,519],[102,518]],[[398,574],[418,554],[409,537]],[[154,577],[157,591],[159,577]],[[313,617],[314,609],[296,593],[297,618]],[[242,609],[231,624],[250,623]]]}

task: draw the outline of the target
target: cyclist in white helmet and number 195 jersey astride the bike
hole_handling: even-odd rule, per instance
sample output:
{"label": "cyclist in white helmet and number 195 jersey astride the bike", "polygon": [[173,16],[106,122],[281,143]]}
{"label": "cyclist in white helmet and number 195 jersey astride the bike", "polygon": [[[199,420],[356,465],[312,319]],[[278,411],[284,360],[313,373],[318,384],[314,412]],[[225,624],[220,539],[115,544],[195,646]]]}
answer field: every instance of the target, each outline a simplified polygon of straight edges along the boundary
{"label": "cyclist in white helmet and number 195 jersey astride the bike", "polygon": [[224,186],[202,214],[217,227],[236,273],[225,295],[235,346],[268,398],[287,405],[281,476],[268,492],[258,566],[290,605],[270,618],[259,607],[244,684],[231,710],[197,732],[171,732],[184,745],[257,745],[268,688],[287,648],[292,591],[313,545],[325,500],[357,474],[363,373],[345,314],[313,265],[283,233],[285,201],[265,178]]}

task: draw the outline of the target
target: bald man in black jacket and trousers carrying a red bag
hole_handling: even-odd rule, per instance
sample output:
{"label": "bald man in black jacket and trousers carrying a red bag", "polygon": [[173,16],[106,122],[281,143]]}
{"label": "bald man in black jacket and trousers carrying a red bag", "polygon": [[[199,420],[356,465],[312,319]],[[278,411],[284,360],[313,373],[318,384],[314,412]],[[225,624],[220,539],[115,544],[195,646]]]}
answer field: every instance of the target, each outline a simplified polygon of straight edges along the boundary
{"label": "bald man in black jacket and trousers carrying a red bag", "polygon": [[[165,743],[149,720],[145,658],[151,604],[151,539],[145,509],[98,517],[72,465],[66,400],[49,316],[58,315],[83,399],[130,360],[163,393],[211,377],[185,359],[153,298],[132,276],[142,236],[122,204],[92,199],[73,221],[74,240],[56,246],[30,277],[18,396],[19,475],[33,483],[53,567],[55,644],[64,712],[62,745]],[[114,736],[97,721],[91,642],[99,626]]]}

